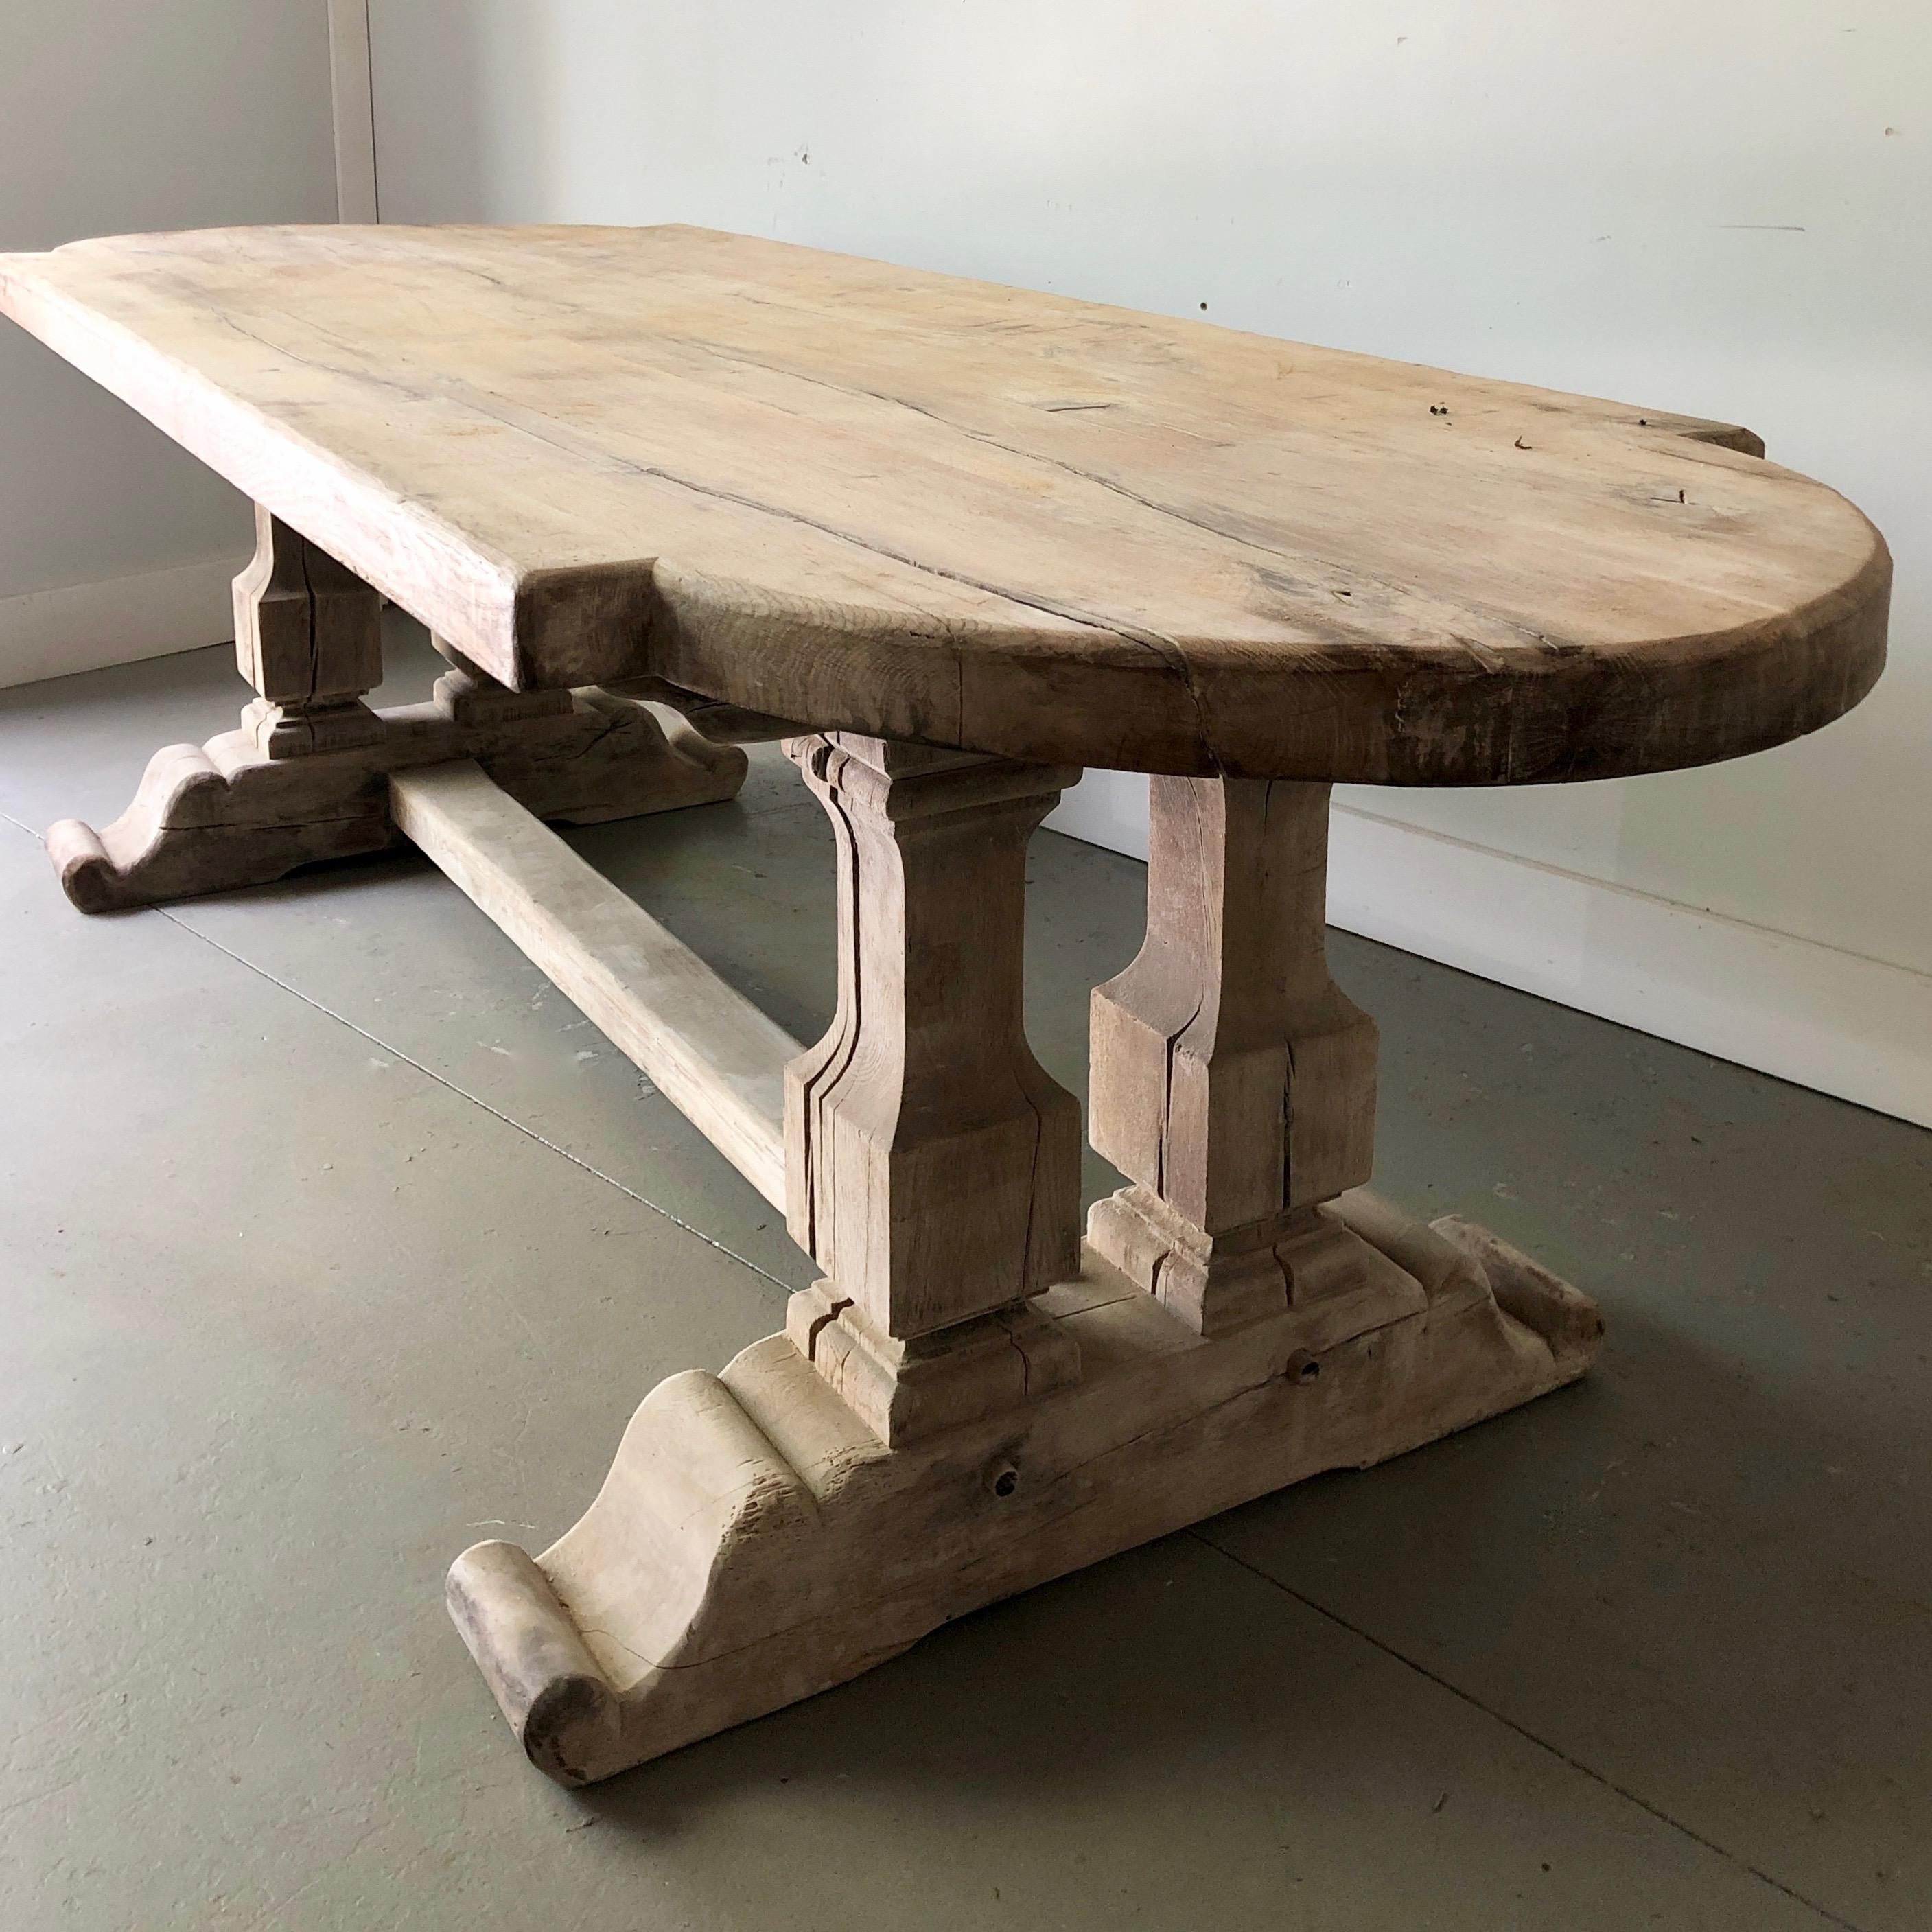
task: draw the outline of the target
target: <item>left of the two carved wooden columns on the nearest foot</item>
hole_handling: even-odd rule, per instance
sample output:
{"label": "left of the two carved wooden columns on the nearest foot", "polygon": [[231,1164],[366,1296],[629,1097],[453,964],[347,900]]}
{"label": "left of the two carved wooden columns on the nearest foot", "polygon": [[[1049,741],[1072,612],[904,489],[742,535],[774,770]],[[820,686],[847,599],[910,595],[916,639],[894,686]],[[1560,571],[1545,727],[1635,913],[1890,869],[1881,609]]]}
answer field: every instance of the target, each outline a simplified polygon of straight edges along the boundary
{"label": "left of the two carved wooden columns on the nearest foot", "polygon": [[1080,1109],[1020,1007],[1026,842],[1074,775],[842,732],[786,750],[838,854],[838,1007],[786,1072],[786,1219],[852,1302],[840,1385],[902,1432],[895,1378],[952,1372],[929,1337],[960,1329],[954,1368],[1009,1378],[1024,1352],[968,1350],[962,1323],[1078,1269]]}

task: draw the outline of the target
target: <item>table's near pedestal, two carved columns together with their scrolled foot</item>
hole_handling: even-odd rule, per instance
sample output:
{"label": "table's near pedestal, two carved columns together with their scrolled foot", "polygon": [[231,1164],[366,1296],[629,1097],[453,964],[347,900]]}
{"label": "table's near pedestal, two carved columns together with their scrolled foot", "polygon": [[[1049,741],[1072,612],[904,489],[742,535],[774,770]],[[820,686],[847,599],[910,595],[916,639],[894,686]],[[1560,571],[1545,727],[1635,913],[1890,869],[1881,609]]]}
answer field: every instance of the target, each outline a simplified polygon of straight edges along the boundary
{"label": "table's near pedestal, two carved columns together with their scrolled foot", "polygon": [[[1325,792],[1159,781],[1148,947],[1070,1097],[1020,1028],[1026,837],[1065,775],[877,740],[792,755],[838,842],[838,1010],[786,1078],[786,1327],[632,1416],[539,1557],[450,1611],[529,1758],[607,1777],[951,1617],[1582,1374],[1594,1306],[1366,1177],[1374,1028],[1321,960]],[[1269,796],[1269,790],[1275,796]]]}

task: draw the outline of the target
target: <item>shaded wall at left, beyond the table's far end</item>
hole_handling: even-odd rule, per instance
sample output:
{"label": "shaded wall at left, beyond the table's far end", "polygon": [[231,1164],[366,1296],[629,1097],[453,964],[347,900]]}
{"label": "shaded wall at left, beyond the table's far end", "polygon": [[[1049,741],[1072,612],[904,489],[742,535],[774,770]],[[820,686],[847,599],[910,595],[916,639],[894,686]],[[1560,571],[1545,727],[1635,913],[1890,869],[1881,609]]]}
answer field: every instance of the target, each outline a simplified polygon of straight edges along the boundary
{"label": "shaded wall at left, beyond the table's far end", "polygon": [[[10,0],[0,249],[336,218],[325,0]],[[0,325],[0,684],[213,643],[247,506]]]}

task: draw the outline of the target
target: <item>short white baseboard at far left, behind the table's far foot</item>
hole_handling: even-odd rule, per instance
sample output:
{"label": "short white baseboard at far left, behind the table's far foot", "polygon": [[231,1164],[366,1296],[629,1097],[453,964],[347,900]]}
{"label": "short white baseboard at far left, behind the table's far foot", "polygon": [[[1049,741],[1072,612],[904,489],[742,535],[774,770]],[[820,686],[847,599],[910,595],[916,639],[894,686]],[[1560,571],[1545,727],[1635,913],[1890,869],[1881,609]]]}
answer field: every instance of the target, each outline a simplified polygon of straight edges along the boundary
{"label": "short white baseboard at far left, behind the table's far foot", "polygon": [[209,556],[106,583],[0,597],[0,686],[131,665],[232,638],[228,587],[245,562],[245,556]]}

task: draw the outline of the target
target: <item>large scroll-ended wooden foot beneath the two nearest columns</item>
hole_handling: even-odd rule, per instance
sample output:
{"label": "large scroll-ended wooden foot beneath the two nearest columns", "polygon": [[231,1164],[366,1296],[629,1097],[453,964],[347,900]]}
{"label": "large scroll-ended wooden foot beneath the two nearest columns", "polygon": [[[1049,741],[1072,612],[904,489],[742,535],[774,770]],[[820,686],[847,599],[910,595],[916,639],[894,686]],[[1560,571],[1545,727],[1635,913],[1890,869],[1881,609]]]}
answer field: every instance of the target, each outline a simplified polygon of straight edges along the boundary
{"label": "large scroll-ended wooden foot beneath the two nearest columns", "polygon": [[788,1335],[661,1383],[576,1528],[450,1569],[450,1613],[531,1762],[609,1777],[981,1604],[1513,1408],[1596,1354],[1596,1306],[1484,1229],[1372,1196],[1321,1225],[1350,1265],[1221,1337],[1090,1250],[1032,1304],[1080,1379],[896,1449]]}

